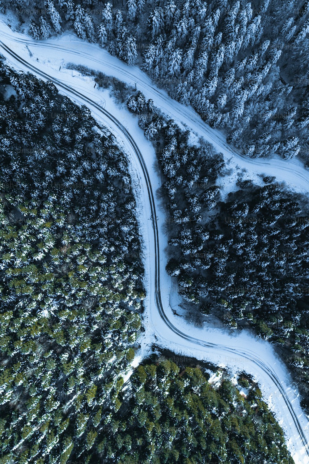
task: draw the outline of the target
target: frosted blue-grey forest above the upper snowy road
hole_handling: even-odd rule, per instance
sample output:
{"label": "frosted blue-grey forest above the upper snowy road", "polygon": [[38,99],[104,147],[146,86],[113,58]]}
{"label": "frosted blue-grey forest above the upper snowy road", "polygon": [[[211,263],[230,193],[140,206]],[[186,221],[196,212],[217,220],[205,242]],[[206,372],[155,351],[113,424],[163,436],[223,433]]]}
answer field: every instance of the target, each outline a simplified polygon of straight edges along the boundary
{"label": "frosted blue-grey forest above the upper snowy road", "polygon": [[309,140],[309,1],[12,0],[45,39],[65,29],[139,64],[251,157],[299,155]]}

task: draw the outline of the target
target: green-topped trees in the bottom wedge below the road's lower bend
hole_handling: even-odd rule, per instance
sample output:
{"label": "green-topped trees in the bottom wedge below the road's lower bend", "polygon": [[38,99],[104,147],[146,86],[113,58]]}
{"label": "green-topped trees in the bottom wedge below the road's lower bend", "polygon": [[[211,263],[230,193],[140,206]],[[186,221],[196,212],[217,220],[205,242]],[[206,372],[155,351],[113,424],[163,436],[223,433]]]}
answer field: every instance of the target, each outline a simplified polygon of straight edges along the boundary
{"label": "green-topped trees in the bottom wedge below the road's lower bend", "polygon": [[293,463],[258,391],[245,400],[228,380],[215,390],[200,368],[181,371],[172,361],[139,366],[132,381],[92,462],[109,463],[114,452],[121,463]]}

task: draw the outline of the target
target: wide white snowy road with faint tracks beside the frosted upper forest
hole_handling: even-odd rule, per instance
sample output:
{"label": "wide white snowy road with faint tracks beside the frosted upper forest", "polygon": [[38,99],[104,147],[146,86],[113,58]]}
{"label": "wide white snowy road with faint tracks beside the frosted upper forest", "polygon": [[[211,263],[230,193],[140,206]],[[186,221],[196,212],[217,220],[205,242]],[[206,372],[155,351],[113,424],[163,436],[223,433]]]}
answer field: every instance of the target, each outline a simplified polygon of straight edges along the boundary
{"label": "wide white snowy road with faint tracks beside the frosted upper forest", "polygon": [[61,57],[64,61],[83,64],[117,77],[127,84],[137,84],[138,89],[142,90],[147,98],[153,98],[164,113],[169,114],[177,122],[187,124],[197,135],[208,140],[214,148],[220,151],[226,160],[233,157],[235,163],[239,163],[241,167],[249,171],[258,170],[265,175],[276,175],[278,181],[287,182],[297,191],[309,191],[309,172],[304,169],[300,160],[283,160],[280,157],[255,159],[242,155],[236,148],[227,144],[226,137],[221,131],[209,127],[191,107],[172,100],[137,66],[128,66],[118,58],[111,56],[98,44],[89,44],[69,33],[61,38],[36,41],[28,36],[12,32],[5,25],[0,28],[0,38],[10,48],[14,48],[14,43],[27,45],[32,50],[35,49],[36,52],[41,53],[45,60],[57,59],[59,61]]}

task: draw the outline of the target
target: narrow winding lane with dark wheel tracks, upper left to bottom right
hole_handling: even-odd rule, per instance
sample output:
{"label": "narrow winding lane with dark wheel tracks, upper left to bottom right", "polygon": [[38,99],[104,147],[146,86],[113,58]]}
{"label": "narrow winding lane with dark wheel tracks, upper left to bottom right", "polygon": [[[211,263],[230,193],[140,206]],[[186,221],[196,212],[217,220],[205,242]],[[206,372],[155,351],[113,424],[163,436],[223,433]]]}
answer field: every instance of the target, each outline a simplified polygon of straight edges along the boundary
{"label": "narrow winding lane with dark wheel tracks, upper left to bottom right", "polygon": [[154,297],[155,305],[156,305],[156,308],[158,309],[158,314],[160,318],[164,321],[166,327],[170,329],[170,331],[173,334],[176,334],[178,338],[186,342],[190,342],[195,347],[214,348],[216,350],[220,349],[221,351],[224,351],[225,353],[231,354],[232,357],[235,357],[235,358],[240,357],[245,360],[248,360],[249,362],[253,363],[257,368],[259,368],[261,371],[263,371],[268,377],[270,384],[273,385],[274,389],[276,389],[282,396],[282,399],[286,406],[286,411],[290,415],[289,420],[291,421],[292,424],[294,424],[294,427],[298,433],[299,441],[297,440],[297,443],[293,444],[294,449],[296,448],[297,450],[297,447],[298,448],[301,447],[304,451],[303,456],[302,456],[302,461],[299,460],[298,462],[309,463],[309,445],[308,445],[308,439],[303,429],[303,425],[300,423],[299,417],[293,409],[293,405],[289,398],[289,395],[287,394],[286,389],[282,386],[282,382],[278,378],[275,369],[267,361],[264,361],[263,358],[259,356],[258,353],[254,352],[253,350],[232,348],[231,346],[228,346],[228,345],[206,342],[205,340],[196,338],[192,335],[185,333],[183,330],[179,329],[179,327],[177,327],[173,322],[171,322],[170,318],[167,316],[167,313],[164,310],[164,306],[162,303],[161,287],[160,287],[160,249],[159,249],[160,240],[159,240],[157,213],[156,213],[156,201],[155,201],[155,197],[154,197],[153,190],[151,187],[151,180],[150,180],[150,176],[148,173],[148,169],[147,169],[144,157],[138,145],[136,144],[135,140],[133,139],[132,135],[128,132],[128,130],[124,127],[124,125],[119,120],[117,120],[117,118],[115,118],[112,114],[110,114],[106,109],[102,108],[101,105],[96,103],[91,98],[75,90],[72,86],[69,86],[68,84],[63,83],[57,77],[51,76],[49,73],[44,72],[38,67],[29,63],[27,60],[20,57],[17,53],[13,52],[13,50],[2,41],[0,41],[0,48],[4,56],[6,56],[6,58],[8,59],[8,61],[12,62],[13,66],[16,67],[17,65],[20,69],[24,71],[31,71],[33,74],[35,74],[36,76],[40,78],[43,78],[44,80],[52,81],[55,85],[57,85],[57,87],[62,91],[62,93],[65,93],[66,95],[73,98],[79,103],[86,104],[88,108],[92,110],[92,112],[94,112],[95,114],[101,115],[101,119],[104,122],[107,121],[113,126],[116,126],[119,129],[122,136],[126,138],[128,145],[131,147],[131,153],[134,154],[138,160],[140,172],[145,180],[145,186],[147,189],[147,195],[149,199],[149,207],[148,208],[147,206],[145,207],[149,209],[151,212],[151,222],[152,222],[152,228],[153,228],[153,247],[154,247],[154,258],[155,258],[154,296],[153,297]]}

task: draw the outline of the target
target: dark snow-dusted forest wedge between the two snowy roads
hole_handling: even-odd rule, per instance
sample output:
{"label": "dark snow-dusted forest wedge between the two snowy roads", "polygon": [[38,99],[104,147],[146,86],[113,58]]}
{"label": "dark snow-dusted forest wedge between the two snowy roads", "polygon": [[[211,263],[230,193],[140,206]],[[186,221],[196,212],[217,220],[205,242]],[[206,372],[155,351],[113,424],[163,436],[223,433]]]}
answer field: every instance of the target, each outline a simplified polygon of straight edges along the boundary
{"label": "dark snow-dusted forest wedge between the two snowy roads", "polygon": [[[97,80],[100,82],[100,80]],[[153,142],[168,211],[167,271],[177,279],[191,322],[217,316],[231,329],[252,328],[274,343],[309,411],[309,204],[264,177],[238,178],[221,196],[222,155],[180,129],[139,91],[127,100]]]}

